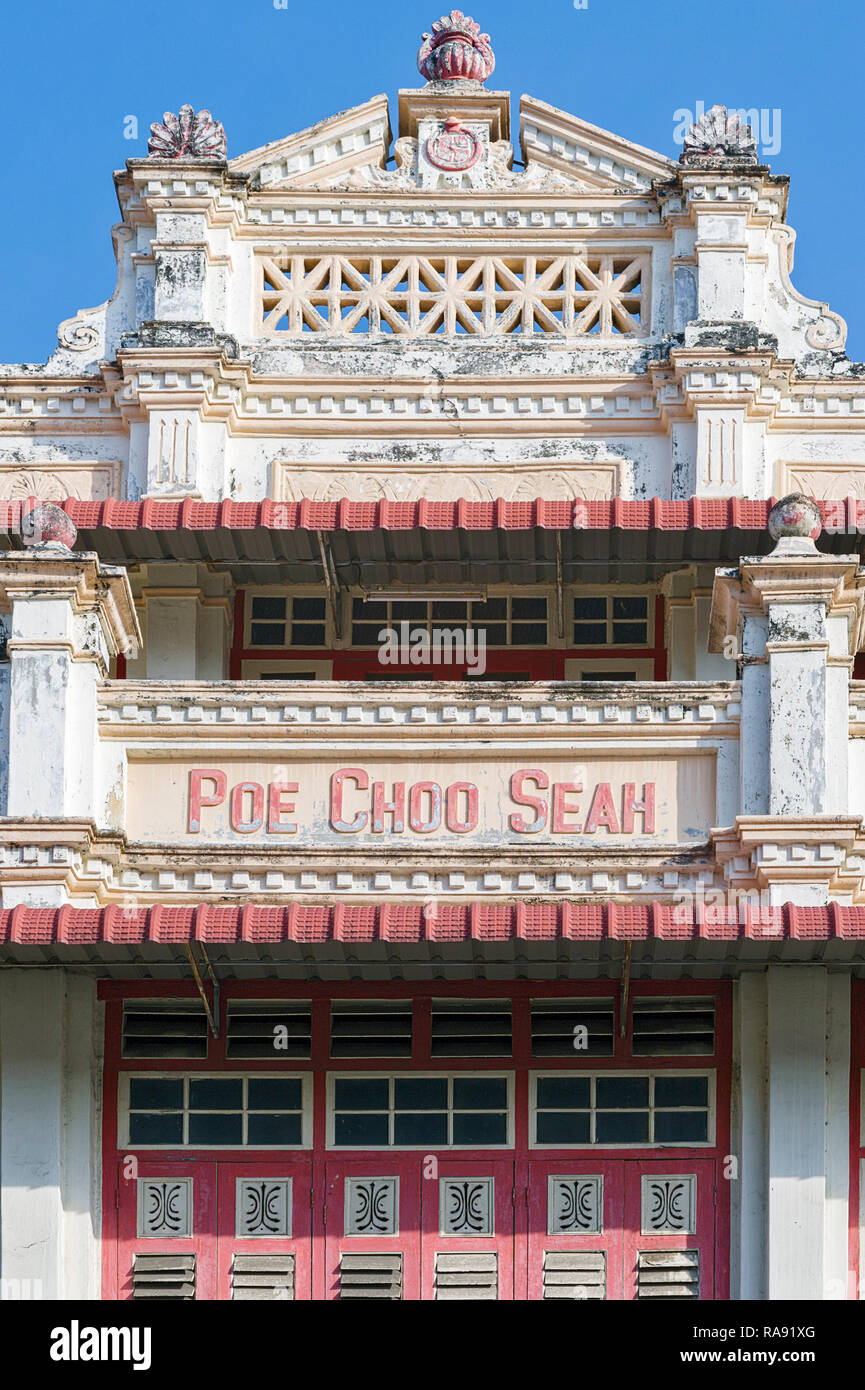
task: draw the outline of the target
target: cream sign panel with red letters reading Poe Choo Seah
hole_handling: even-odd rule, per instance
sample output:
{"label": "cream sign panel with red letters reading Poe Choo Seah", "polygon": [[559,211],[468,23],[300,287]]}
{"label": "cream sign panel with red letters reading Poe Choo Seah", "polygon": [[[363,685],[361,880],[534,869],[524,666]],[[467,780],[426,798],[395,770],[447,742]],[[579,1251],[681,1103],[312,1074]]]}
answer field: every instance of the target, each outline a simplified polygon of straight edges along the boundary
{"label": "cream sign panel with red letters reading Poe Choo Seah", "polygon": [[127,834],[178,844],[687,844],[715,823],[715,759],[467,753],[413,762],[129,760]]}

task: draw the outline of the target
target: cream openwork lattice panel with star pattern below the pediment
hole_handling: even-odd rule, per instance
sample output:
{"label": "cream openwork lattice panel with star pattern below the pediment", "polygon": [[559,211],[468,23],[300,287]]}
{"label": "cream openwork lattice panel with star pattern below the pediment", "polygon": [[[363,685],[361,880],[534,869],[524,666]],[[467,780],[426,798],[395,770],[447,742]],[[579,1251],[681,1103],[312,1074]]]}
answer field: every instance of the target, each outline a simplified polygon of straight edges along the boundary
{"label": "cream openwork lattice panel with star pattern below the pediment", "polygon": [[649,259],[261,256],[266,334],[597,334],[648,331]]}

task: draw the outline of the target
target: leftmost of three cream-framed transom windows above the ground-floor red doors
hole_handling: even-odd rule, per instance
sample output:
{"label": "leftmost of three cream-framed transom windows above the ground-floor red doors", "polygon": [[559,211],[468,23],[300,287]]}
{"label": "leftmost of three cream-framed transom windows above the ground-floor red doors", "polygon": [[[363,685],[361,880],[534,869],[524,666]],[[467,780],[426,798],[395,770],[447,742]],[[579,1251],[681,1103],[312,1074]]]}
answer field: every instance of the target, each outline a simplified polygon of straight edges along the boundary
{"label": "leftmost of three cream-framed transom windows above the ground-floor red doors", "polygon": [[300,1148],[309,1077],[121,1076],[122,1144],[135,1148]]}

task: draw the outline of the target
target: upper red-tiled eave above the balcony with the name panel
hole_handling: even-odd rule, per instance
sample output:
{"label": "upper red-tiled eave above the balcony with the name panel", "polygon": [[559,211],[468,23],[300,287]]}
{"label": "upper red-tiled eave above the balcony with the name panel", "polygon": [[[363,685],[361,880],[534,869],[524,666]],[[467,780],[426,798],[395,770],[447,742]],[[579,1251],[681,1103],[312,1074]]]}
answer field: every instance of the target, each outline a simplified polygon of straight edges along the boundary
{"label": "upper red-tiled eave above the balcony with the name panel", "polygon": [[[0,546],[21,548],[22,510],[0,502]],[[76,549],[115,564],[228,564],[241,584],[320,582],[325,541],[343,582],[540,584],[655,582],[665,569],[736,564],[772,549],[770,500],[690,498],[645,502],[79,502],[63,503]],[[822,550],[850,553],[865,531],[865,503],[823,503],[832,525]],[[855,516],[850,516],[850,510]],[[6,542],[3,539],[6,532]]]}

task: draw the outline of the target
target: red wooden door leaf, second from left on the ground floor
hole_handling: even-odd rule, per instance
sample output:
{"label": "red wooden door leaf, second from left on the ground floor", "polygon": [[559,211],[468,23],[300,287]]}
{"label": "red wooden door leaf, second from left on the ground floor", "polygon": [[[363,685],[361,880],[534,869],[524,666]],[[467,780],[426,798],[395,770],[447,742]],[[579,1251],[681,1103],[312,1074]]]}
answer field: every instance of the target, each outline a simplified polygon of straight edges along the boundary
{"label": "red wooden door leaf, second from left on the ground floor", "polygon": [[220,1163],[217,1298],[307,1300],[312,1162]]}

